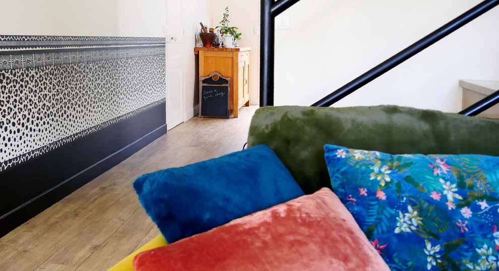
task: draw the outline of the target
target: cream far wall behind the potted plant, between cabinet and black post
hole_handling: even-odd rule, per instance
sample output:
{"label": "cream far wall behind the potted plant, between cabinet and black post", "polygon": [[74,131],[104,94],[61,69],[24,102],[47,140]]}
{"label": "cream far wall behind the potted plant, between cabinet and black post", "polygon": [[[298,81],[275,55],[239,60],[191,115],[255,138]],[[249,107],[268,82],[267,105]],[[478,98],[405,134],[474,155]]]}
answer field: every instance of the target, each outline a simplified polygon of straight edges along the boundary
{"label": "cream far wall behind the potted plant, between cabinet and black post", "polygon": [[242,33],[239,47],[251,47],[249,63],[249,103],[258,105],[260,101],[260,35],[254,33],[255,27],[260,30],[260,0],[215,0],[213,1],[213,24],[219,26],[225,7],[229,6],[229,26],[236,26]]}

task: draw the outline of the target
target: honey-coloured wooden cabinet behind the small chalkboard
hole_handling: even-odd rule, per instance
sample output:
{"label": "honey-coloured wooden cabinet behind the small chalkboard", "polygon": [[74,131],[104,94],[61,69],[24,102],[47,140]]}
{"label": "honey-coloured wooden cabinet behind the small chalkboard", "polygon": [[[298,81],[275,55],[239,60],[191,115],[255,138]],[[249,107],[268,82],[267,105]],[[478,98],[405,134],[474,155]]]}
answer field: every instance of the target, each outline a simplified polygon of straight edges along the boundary
{"label": "honey-coloured wooden cabinet behind the small chalkboard", "polygon": [[219,72],[223,77],[230,77],[230,109],[234,117],[238,116],[241,106],[249,106],[249,52],[250,47],[213,48],[196,47],[199,54],[199,76],[209,76]]}

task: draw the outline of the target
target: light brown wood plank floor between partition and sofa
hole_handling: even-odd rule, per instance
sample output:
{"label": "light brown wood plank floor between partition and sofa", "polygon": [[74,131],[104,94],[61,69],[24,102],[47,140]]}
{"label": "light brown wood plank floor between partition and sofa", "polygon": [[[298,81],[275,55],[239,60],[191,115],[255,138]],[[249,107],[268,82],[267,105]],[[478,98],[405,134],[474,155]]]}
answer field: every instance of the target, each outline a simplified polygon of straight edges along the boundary
{"label": "light brown wood plank floor between partition and sofa", "polygon": [[0,270],[107,270],[159,234],[132,183],[141,174],[239,151],[257,106],[194,117],[0,239]]}

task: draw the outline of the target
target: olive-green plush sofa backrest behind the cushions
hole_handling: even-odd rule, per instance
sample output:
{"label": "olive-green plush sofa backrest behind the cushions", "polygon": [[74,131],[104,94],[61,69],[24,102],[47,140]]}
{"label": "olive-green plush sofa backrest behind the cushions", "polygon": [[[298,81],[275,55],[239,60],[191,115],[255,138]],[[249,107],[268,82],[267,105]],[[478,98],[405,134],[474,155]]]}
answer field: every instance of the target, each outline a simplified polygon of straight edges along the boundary
{"label": "olive-green plush sofa backrest behind the cushions", "polygon": [[499,156],[499,120],[399,106],[262,107],[248,147],[266,144],[305,193],[331,187],[324,145],[390,154]]}

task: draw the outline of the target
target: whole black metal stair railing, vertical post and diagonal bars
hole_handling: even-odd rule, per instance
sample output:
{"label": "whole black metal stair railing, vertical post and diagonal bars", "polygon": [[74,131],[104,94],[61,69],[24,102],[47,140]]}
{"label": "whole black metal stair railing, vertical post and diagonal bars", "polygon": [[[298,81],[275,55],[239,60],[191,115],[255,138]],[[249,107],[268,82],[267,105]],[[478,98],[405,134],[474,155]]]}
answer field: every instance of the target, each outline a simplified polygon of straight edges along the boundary
{"label": "whole black metal stair railing, vertical post and diagonal bars", "polygon": [[[260,106],[274,105],[274,21],[275,17],[297,3],[299,0],[262,0],[261,4],[261,44],[260,44]],[[475,18],[499,5],[499,0],[486,0],[461,16],[445,24],[416,43],[400,51],[383,63],[373,67],[368,72],[339,88],[312,106],[331,106],[365,84],[375,80],[393,69],[395,66],[424,50],[433,43],[441,40]],[[495,95],[494,95],[495,94]],[[499,95],[494,93],[489,97],[472,105],[470,110],[465,109],[460,114],[476,115],[492,105],[499,103]]]}

